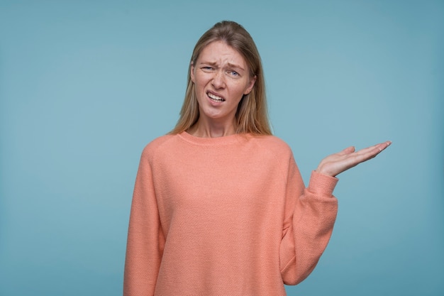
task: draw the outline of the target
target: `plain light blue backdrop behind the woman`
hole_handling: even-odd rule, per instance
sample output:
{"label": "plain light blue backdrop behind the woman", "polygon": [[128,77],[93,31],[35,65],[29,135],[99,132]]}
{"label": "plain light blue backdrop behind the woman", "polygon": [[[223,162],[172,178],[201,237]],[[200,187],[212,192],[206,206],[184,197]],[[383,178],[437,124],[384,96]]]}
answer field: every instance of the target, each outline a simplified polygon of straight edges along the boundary
{"label": "plain light blue backdrop behind the woman", "polygon": [[274,133],[338,221],[289,295],[444,295],[443,1],[0,1],[0,295],[121,295],[140,152],[177,120],[199,36],[262,55]]}

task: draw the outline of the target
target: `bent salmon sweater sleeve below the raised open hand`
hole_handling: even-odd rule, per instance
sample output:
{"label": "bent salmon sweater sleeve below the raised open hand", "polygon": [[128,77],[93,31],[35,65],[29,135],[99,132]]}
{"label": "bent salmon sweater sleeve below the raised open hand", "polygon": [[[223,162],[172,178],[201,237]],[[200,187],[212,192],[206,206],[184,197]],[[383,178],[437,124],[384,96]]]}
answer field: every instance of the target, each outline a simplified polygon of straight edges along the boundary
{"label": "bent salmon sweater sleeve below the raised open hand", "polygon": [[304,188],[294,160],[290,160],[284,231],[279,251],[284,283],[296,285],[316,267],[333,231],[338,200],[335,177],[311,173]]}

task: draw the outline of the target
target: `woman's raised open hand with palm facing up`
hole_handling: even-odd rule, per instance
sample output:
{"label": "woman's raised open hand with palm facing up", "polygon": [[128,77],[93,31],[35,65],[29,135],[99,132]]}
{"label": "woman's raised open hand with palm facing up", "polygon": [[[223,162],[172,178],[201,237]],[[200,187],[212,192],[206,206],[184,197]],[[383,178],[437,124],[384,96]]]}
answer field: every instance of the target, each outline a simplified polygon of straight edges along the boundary
{"label": "woman's raised open hand with palm facing up", "polygon": [[382,150],[389,147],[391,143],[391,141],[387,141],[358,151],[355,151],[355,147],[353,146],[345,148],[344,150],[328,155],[321,160],[316,172],[335,177],[335,175],[338,175],[349,168],[353,168],[355,165],[359,165],[360,163],[374,158],[381,153]]}

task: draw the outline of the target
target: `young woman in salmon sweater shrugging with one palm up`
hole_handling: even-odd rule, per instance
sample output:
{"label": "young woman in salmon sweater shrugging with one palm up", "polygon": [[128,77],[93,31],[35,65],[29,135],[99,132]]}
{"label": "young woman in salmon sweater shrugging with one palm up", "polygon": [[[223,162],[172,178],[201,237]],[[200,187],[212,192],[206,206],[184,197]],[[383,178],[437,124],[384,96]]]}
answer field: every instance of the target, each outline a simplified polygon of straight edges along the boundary
{"label": "young woman in salmon sweater shrugging with one palm up", "polygon": [[123,294],[285,295],[330,239],[335,175],[389,144],[324,158],[305,187],[272,136],[255,43],[216,23],[194,48],[177,126],[143,150]]}

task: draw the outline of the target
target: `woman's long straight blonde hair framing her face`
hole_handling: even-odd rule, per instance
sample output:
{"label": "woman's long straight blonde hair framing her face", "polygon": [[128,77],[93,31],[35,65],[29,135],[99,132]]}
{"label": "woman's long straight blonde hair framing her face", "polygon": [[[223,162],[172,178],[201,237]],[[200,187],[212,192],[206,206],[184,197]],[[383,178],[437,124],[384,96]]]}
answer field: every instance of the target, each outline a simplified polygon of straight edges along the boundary
{"label": "woman's long straight blonde hair framing her face", "polygon": [[223,41],[238,51],[248,64],[250,77],[256,77],[256,82],[250,94],[245,94],[240,100],[235,118],[237,121],[236,133],[253,133],[256,135],[271,135],[270,121],[268,119],[267,98],[265,95],[265,80],[262,62],[255,42],[250,34],[234,21],[221,21],[216,23],[209,31],[197,41],[194,47],[188,69],[187,92],[180,117],[170,134],[187,131],[199,119],[199,105],[194,92],[194,83],[191,80],[191,67],[196,64],[201,51],[214,41]]}

